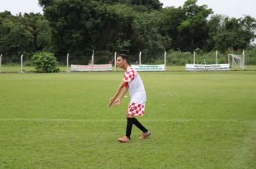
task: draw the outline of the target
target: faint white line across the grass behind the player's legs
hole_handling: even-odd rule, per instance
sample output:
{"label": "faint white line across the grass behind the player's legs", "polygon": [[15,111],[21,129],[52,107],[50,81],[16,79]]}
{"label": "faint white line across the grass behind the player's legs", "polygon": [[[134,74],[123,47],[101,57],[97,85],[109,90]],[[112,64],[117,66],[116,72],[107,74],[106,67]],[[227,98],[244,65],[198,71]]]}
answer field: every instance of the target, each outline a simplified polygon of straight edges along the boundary
{"label": "faint white line across the grass behind the player's legs", "polygon": [[[0,118],[0,121],[27,121],[27,122],[118,122],[123,120],[111,119],[30,119],[30,118]],[[256,123],[253,120],[221,120],[221,119],[156,119],[142,120],[143,122],[249,122]]]}

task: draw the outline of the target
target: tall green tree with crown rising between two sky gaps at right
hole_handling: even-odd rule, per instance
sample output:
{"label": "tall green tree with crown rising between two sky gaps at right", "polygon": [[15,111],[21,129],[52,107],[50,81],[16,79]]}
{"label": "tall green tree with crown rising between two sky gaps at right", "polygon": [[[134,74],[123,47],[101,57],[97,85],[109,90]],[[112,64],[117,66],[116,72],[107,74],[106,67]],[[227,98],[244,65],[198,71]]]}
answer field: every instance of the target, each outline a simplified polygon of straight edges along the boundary
{"label": "tall green tree with crown rising between two sky gaps at right", "polygon": [[187,0],[178,8],[171,6],[163,9],[160,32],[166,49],[193,51],[206,48],[209,38],[207,17],[212,10],[196,3],[197,0]]}

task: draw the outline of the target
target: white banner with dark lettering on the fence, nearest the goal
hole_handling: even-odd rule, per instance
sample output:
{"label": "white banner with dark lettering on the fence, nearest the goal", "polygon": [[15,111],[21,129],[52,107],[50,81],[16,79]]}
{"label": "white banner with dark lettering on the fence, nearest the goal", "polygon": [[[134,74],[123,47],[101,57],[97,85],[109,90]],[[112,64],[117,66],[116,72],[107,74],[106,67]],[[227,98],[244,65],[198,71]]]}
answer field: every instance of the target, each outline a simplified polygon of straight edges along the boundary
{"label": "white banner with dark lettering on the fence, nearest the goal", "polygon": [[229,70],[229,64],[186,64],[187,71],[224,71]]}

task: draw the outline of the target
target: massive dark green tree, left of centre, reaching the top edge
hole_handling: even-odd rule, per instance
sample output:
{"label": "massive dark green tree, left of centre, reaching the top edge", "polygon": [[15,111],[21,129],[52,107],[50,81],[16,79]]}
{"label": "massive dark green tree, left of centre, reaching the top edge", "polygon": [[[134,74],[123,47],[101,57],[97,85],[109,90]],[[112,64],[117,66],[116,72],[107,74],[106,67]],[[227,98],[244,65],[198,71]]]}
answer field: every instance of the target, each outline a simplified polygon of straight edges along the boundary
{"label": "massive dark green tree, left of centre, reaching the top edge", "polygon": [[[113,49],[116,37],[128,37],[130,16],[118,16],[101,1],[53,1],[42,4],[52,27],[57,54]],[[50,4],[50,5],[49,5]]]}

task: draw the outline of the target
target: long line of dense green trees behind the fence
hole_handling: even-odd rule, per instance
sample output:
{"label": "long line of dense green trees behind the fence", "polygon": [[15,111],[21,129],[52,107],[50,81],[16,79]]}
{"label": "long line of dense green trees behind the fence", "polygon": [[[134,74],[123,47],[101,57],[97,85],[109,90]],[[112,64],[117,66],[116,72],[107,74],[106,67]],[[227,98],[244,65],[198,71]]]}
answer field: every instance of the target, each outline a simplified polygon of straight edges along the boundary
{"label": "long line of dense green trees behind the fence", "polygon": [[56,56],[103,52],[241,50],[255,39],[252,16],[214,14],[197,0],[163,8],[159,0],[39,0],[43,14],[0,12],[0,53]]}

